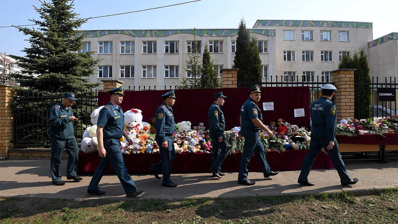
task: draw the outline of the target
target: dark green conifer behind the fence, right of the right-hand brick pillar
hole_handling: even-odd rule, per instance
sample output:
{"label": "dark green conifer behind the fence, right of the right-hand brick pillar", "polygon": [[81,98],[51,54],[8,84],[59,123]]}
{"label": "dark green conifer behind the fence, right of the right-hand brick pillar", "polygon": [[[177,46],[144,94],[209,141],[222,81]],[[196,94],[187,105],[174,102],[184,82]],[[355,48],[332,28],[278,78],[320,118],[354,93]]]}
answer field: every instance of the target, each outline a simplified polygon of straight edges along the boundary
{"label": "dark green conifer behind the fence, right of the right-hand brick pillar", "polygon": [[[339,69],[357,69],[354,71],[354,82],[371,83],[365,45],[359,47],[359,51],[354,51],[352,56],[343,55]],[[372,88],[369,88],[369,85],[355,85],[354,106],[354,118],[360,120],[373,117]]]}

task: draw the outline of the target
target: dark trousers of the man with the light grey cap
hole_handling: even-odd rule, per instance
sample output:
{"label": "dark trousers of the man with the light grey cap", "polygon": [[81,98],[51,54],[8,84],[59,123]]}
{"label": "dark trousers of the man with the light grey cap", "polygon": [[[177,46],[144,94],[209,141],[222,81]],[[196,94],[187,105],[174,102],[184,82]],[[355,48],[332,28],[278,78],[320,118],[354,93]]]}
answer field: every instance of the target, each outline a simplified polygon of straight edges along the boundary
{"label": "dark trousers of the man with the light grey cap", "polygon": [[308,150],[308,153],[305,156],[304,161],[302,162],[301,172],[300,176],[298,177],[298,180],[304,182],[308,181],[308,174],[310,173],[312,163],[314,163],[316,155],[318,155],[319,151],[322,149],[322,147],[324,147],[325,151],[329,154],[330,158],[332,159],[333,165],[339,174],[341,183],[346,183],[348,181],[351,181],[351,177],[345,170],[344,162],[341,159],[339,145],[336,139],[334,140],[334,147],[328,150],[326,149],[326,147],[329,145],[328,138],[320,137],[319,134],[320,133],[317,132],[316,130],[313,130],[311,132],[310,149]]}

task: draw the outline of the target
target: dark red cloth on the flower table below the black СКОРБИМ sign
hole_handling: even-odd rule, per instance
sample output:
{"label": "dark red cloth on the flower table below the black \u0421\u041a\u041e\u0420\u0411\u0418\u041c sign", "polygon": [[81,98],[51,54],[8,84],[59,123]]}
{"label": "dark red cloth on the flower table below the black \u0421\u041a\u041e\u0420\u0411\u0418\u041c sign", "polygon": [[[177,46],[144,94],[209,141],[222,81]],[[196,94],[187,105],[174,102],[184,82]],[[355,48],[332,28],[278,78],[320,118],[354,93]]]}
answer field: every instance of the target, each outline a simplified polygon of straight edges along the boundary
{"label": "dark red cloth on the flower table below the black \u0421\u041a\u041e\u0420\u0411\u0418\u041c sign", "polygon": [[386,138],[379,135],[357,135],[349,137],[336,135],[338,143],[360,144],[360,145],[398,145],[398,134],[383,134]]}

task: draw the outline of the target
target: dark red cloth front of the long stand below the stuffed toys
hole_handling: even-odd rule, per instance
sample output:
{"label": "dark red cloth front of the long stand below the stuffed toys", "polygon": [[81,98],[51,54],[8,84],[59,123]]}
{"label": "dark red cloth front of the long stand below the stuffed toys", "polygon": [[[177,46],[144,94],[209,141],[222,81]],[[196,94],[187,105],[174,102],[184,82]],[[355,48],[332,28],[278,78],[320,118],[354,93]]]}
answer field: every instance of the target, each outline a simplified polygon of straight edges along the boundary
{"label": "dark red cloth front of the long stand below the stuffed toys", "polygon": [[[300,170],[302,161],[308,150],[290,150],[284,153],[270,151],[267,153],[267,160],[272,170]],[[130,173],[148,173],[151,164],[160,161],[159,154],[139,154],[139,155],[123,155],[126,167]],[[172,172],[209,172],[211,166],[211,153],[181,153],[177,154],[173,161]],[[222,171],[238,172],[241,153],[228,155]],[[86,154],[82,151],[79,153],[78,173],[94,173],[100,164],[101,157],[98,153]],[[331,169],[333,168],[330,156],[320,151],[316,157],[312,169]],[[249,163],[249,171],[261,171],[256,153]],[[110,166],[107,172],[114,172]]]}

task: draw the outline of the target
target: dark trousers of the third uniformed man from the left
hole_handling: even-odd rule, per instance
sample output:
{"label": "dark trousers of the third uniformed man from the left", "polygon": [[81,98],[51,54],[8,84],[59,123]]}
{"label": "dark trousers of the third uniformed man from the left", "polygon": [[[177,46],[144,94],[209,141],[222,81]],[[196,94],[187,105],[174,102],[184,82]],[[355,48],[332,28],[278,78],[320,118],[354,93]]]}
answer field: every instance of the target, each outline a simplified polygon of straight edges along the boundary
{"label": "dark trousers of the third uniformed man from the left", "polygon": [[162,147],[162,140],[156,139],[156,142],[159,145],[160,158],[162,160],[160,160],[158,163],[152,164],[152,168],[158,173],[162,172],[162,184],[169,185],[173,183],[173,181],[170,180],[170,175],[172,173],[172,161],[176,158],[176,149],[174,149],[172,137],[166,138],[167,149]]}

